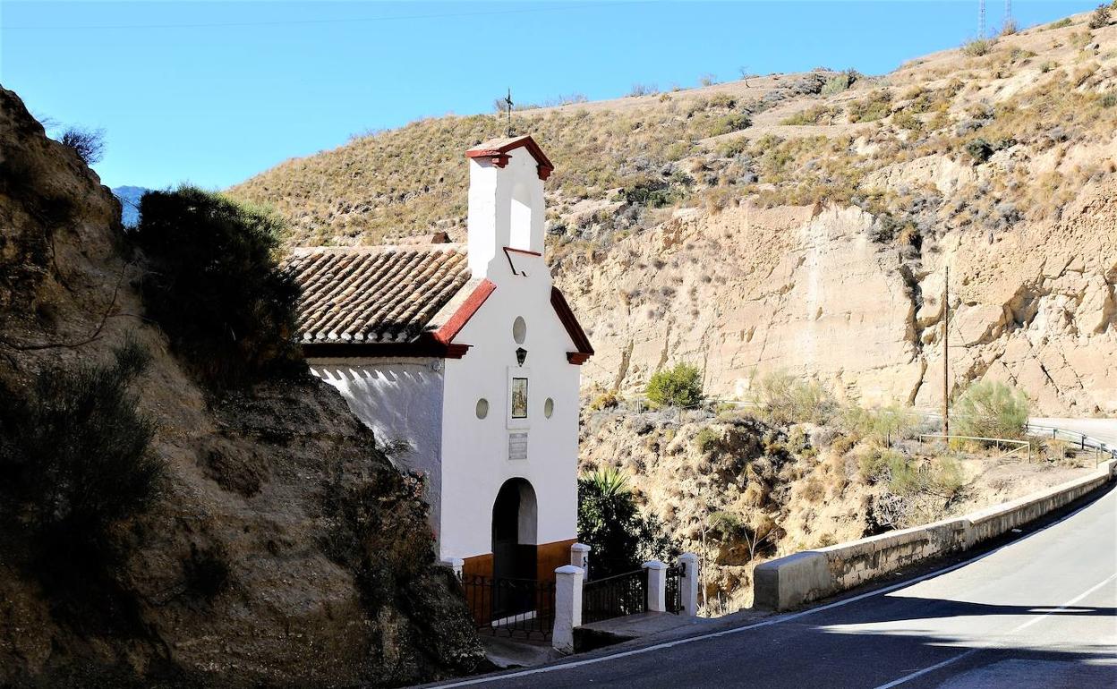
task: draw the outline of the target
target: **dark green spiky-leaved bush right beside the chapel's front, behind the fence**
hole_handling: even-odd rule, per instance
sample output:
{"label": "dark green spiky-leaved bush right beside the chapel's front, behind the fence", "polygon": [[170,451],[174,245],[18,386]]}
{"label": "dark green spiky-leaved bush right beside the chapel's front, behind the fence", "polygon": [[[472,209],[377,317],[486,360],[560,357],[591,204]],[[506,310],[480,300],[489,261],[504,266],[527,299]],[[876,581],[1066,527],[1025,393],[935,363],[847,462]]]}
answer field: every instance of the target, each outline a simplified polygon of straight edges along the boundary
{"label": "dark green spiky-leaved bush right beside the chapel's front, behind the fence", "polygon": [[577,479],[577,539],[591,548],[594,578],[636,570],[652,557],[667,559],[677,549],[655,519],[640,516],[628,479],[612,467]]}

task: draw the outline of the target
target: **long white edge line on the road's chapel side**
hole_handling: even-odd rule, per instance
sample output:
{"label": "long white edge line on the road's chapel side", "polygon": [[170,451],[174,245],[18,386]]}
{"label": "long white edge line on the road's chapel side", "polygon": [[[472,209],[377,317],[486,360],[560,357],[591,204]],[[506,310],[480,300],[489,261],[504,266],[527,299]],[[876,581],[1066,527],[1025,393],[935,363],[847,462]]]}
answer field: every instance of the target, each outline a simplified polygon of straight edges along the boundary
{"label": "long white edge line on the road's chapel side", "polygon": [[[1095,505],[1095,504],[1096,504],[1096,500],[1091,500],[1089,504],[1079,507],[1078,509],[1076,509],[1075,511],[1070,513],[1069,515],[1066,515],[1065,517],[1061,517],[1058,520],[1052,521],[1051,524],[1044,526],[1043,528],[1048,529],[1048,528],[1051,528],[1051,527],[1056,526],[1057,524],[1061,524],[1061,523],[1066,521],[1067,519],[1070,519],[1071,517],[1073,517],[1078,513],[1082,511],[1087,507],[1090,507],[1091,505]],[[908,586],[910,586],[913,584],[918,584],[919,582],[926,581],[928,578],[934,578],[934,577],[941,576],[943,574],[949,574],[951,572],[954,572],[955,570],[960,570],[960,568],[962,568],[962,567],[964,567],[966,565],[973,564],[973,563],[977,562],[978,559],[982,559],[983,557],[989,557],[990,555],[993,555],[994,553],[997,553],[997,552],[1000,552],[1000,551],[1009,547],[1010,545],[1012,545],[1014,543],[1016,543],[1016,542],[1012,540],[1012,542],[1006,543],[1006,544],[1004,544],[1004,545],[1002,545],[1000,547],[996,547],[996,548],[994,548],[992,551],[987,551],[985,553],[982,553],[981,555],[977,555],[975,557],[971,557],[970,559],[966,559],[964,562],[955,563],[953,565],[949,565],[948,567],[943,567],[942,570],[936,570],[934,572],[929,572],[927,574],[924,574],[922,576],[917,576],[915,578],[909,578],[909,580],[906,580],[906,581],[892,584],[890,586],[885,586],[884,588],[878,588],[876,591],[869,591],[869,592],[856,595],[856,596],[850,597],[850,599],[843,599],[841,601],[834,601],[833,603],[828,603],[828,604],[821,605],[819,607],[812,607],[810,610],[804,610],[803,612],[796,612],[796,613],[790,614],[790,615],[780,615],[780,616],[773,618],[771,620],[765,620],[764,622],[756,622],[755,624],[746,624],[744,626],[735,626],[733,629],[727,629],[727,630],[723,630],[723,631],[719,631],[719,632],[710,632],[708,634],[700,634],[698,637],[686,637],[684,639],[677,639],[675,641],[665,641],[663,643],[657,643],[655,645],[648,645],[648,647],[643,647],[643,648],[640,648],[640,649],[632,649],[631,651],[622,651],[620,653],[611,653],[609,655],[599,655],[596,658],[586,658],[584,660],[574,660],[574,661],[571,661],[571,662],[564,662],[564,663],[560,663],[560,664],[556,664],[556,666],[543,666],[542,668],[532,668],[529,670],[519,670],[517,672],[508,672],[507,674],[494,674],[494,676],[489,676],[489,677],[478,677],[476,679],[466,679],[466,680],[461,680],[461,681],[458,681],[458,682],[454,682],[451,685],[437,685],[437,686],[440,687],[441,689],[450,689],[451,687],[472,687],[475,685],[487,685],[489,682],[498,682],[498,681],[502,681],[502,680],[516,679],[516,678],[519,678],[519,677],[531,677],[532,674],[542,674],[544,672],[557,672],[560,670],[570,670],[570,669],[573,669],[573,668],[581,668],[583,666],[596,664],[599,662],[607,662],[609,660],[617,660],[619,658],[629,658],[631,655],[640,655],[640,654],[643,654],[643,653],[649,653],[651,651],[660,651],[662,649],[670,649],[670,648],[675,648],[677,645],[685,645],[685,644],[688,644],[688,643],[694,643],[696,641],[705,641],[707,639],[718,639],[718,638],[722,638],[722,637],[727,637],[729,634],[735,634],[737,632],[744,632],[744,631],[748,631],[751,629],[758,629],[761,626],[770,626],[772,624],[782,624],[784,622],[791,622],[792,620],[798,620],[800,618],[805,618],[806,615],[813,615],[817,612],[822,612],[822,611],[825,611],[825,610],[832,610],[834,607],[841,607],[842,605],[849,605],[850,603],[856,603],[858,601],[863,601],[865,599],[870,599],[870,597],[876,596],[876,595],[884,595],[886,593],[891,593],[892,591],[897,591],[899,588],[906,588],[906,587],[908,587]],[[1110,578],[1113,578],[1113,577],[1110,577]],[[1068,605],[1070,605],[1070,604],[1072,604],[1072,603],[1068,603]],[[976,649],[975,649],[975,651],[976,651]],[[975,651],[972,651],[972,652],[975,652]],[[948,664],[948,663],[945,663],[945,664]],[[930,670],[928,669],[927,671],[929,672]]]}

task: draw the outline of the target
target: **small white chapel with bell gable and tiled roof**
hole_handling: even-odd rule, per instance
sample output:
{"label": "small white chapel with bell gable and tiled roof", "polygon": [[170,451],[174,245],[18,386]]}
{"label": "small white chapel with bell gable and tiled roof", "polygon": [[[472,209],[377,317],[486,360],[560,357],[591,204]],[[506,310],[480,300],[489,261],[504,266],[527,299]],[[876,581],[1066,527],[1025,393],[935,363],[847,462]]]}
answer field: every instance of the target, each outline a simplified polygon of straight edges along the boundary
{"label": "small white chapel with bell gable and tiled roof", "polygon": [[426,476],[443,562],[553,578],[576,537],[579,373],[593,348],[544,261],[531,136],[466,152],[468,243],[297,249],[299,333],[400,461]]}

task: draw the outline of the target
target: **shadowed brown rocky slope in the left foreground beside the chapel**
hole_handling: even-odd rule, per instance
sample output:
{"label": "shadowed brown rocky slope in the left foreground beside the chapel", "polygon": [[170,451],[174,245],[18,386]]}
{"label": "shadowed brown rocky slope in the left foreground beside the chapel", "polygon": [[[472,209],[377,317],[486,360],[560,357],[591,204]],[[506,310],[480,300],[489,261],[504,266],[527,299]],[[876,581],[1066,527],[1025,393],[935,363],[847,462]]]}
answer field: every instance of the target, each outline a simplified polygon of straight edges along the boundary
{"label": "shadowed brown rocky slope in the left foreground beside the chapel", "polygon": [[48,594],[3,526],[0,683],[390,686],[480,662],[417,480],[309,376],[201,391],[143,318],[118,202],[7,90],[0,227],[2,380],[18,390],[135,338],[153,354],[136,391],[170,475],[113,535],[115,593],[90,606],[104,615]]}

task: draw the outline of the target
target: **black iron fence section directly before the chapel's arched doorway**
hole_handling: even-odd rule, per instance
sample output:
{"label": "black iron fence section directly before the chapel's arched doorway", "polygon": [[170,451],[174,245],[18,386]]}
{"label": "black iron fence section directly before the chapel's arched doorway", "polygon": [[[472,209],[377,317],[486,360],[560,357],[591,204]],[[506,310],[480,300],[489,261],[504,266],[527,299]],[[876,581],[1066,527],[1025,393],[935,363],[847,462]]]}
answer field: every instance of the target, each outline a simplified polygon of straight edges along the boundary
{"label": "black iron fence section directly before the chapel's arched doorway", "polygon": [[555,583],[531,578],[461,577],[477,631],[522,639],[551,638],[555,622]]}

